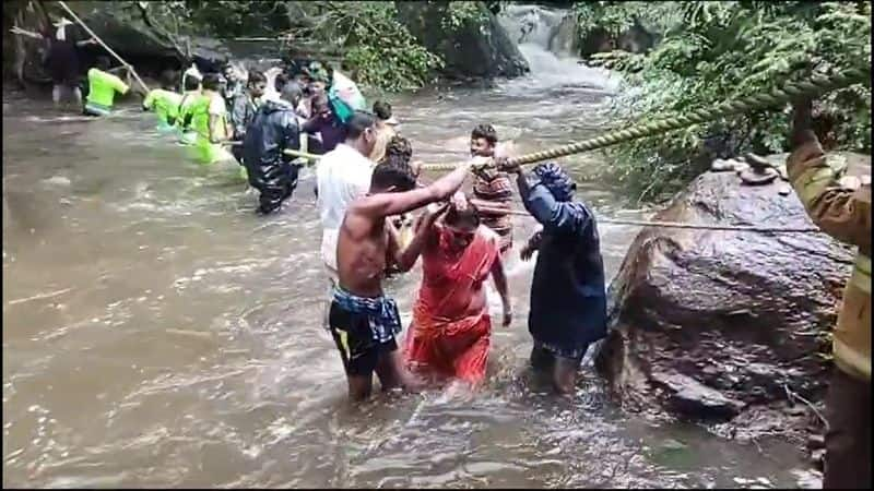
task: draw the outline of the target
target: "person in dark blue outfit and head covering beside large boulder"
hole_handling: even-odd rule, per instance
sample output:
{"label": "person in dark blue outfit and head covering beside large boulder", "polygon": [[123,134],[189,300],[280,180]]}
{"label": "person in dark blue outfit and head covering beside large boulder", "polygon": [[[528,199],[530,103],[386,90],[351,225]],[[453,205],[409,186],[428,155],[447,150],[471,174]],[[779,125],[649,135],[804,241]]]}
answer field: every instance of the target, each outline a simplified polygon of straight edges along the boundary
{"label": "person in dark blue outfit and head covering beside large boulder", "polygon": [[576,184],[556,164],[517,175],[525,209],[541,224],[521,251],[538,251],[528,330],[534,338],[531,364],[552,375],[556,391],[574,392],[577,370],[589,345],[606,334],[604,264],[591,211],[574,202]]}

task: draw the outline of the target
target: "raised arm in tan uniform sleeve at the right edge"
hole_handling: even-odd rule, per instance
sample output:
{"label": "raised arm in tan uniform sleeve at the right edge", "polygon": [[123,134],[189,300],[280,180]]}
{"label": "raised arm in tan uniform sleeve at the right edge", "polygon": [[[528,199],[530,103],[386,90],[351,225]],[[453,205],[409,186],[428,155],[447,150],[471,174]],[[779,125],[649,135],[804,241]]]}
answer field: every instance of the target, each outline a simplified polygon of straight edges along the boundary
{"label": "raised arm in tan uniform sleeve at the right edge", "polygon": [[811,130],[811,101],[794,107],[793,151],[787,160],[792,188],[811,219],[826,233],[859,247],[871,247],[871,184],[841,182],[846,166],[826,159]]}

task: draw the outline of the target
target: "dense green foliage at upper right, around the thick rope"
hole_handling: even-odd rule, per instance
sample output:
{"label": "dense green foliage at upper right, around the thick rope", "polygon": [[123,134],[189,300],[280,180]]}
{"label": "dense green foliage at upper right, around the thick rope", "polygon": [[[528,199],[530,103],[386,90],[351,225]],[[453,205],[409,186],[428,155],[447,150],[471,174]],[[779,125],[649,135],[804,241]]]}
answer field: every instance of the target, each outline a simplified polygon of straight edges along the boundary
{"label": "dense green foliage at upper right, around the thick rope", "polygon": [[[614,112],[624,123],[682,115],[770,91],[810,73],[871,67],[869,2],[581,2],[581,31],[621,32],[635,22],[660,31],[647,53],[605,53],[625,79]],[[871,151],[871,87],[820,100],[831,148]],[[714,156],[787,149],[788,111],[749,113],[614,147],[614,176],[641,197],[672,191]]]}

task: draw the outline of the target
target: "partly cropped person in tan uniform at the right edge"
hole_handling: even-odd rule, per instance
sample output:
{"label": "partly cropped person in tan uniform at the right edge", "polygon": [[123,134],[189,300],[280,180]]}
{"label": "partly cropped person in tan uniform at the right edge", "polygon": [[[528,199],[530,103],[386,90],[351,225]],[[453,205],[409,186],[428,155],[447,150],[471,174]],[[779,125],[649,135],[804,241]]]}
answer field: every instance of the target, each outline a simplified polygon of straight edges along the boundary
{"label": "partly cropped person in tan uniform at the right edge", "polygon": [[823,488],[871,489],[871,177],[823,152],[811,113],[810,99],[795,104],[789,181],[823,231],[858,248],[832,336]]}

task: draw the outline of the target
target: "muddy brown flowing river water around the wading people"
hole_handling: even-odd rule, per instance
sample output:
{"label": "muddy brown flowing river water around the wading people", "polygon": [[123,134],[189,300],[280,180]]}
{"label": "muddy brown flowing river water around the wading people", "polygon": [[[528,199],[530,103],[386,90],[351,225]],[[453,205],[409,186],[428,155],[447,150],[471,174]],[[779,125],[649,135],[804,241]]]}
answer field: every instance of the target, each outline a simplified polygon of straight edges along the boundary
{"label": "muddy brown flowing river water around the wading people", "polygon": [[[418,158],[463,158],[483,121],[519,152],[598,134],[607,79],[523,48],[560,70],[391,99]],[[495,327],[485,387],[350,407],[322,330],[311,171],[258,217],[234,165],[199,167],[153,128],[133,105],[84,121],[3,96],[4,487],[798,484],[792,446],[623,414],[590,366],[570,399],[533,385],[533,265],[516,254],[516,316]],[[578,176],[601,165],[563,161]],[[602,182],[579,195],[646,216]],[[532,230],[516,217],[517,243]],[[638,229],[600,230],[612,277]],[[420,277],[388,282],[405,322]]]}

